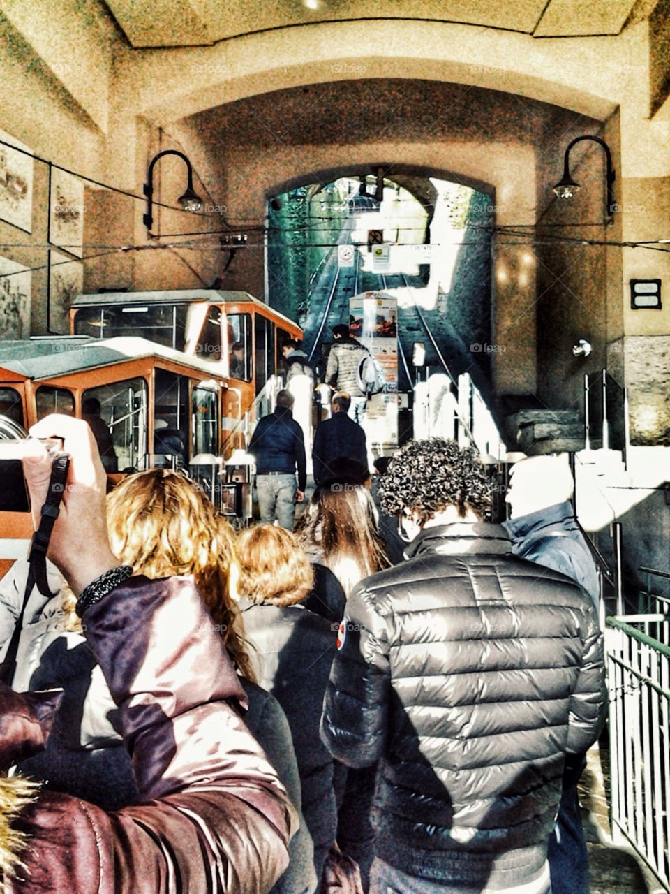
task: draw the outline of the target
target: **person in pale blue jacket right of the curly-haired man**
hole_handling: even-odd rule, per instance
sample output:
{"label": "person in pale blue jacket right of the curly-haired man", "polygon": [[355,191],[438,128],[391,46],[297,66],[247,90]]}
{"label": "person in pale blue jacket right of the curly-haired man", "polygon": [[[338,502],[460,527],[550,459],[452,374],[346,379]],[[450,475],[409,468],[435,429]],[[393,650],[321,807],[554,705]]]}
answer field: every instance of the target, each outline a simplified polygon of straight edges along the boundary
{"label": "person in pale blue jacket right of the curly-haired man", "polygon": [[[573,578],[599,610],[600,581],[589,544],[570,502],[573,473],[567,456],[532,456],[512,468],[506,502],[512,518],[503,527],[512,552]],[[552,894],[589,894],[589,853],[582,828],[577,783],[586,755],[567,755],[556,829],[549,839]]]}

